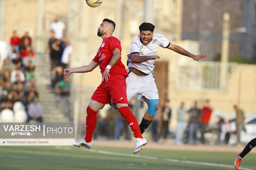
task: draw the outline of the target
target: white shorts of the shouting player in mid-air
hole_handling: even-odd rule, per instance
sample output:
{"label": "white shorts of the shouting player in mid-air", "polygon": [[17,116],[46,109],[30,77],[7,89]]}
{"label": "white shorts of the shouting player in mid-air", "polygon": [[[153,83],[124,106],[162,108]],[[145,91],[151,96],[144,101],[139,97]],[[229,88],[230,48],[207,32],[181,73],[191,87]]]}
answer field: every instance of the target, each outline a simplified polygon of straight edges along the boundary
{"label": "white shorts of the shouting player in mid-air", "polygon": [[[129,73],[130,70],[126,70]],[[145,96],[147,99],[159,100],[158,89],[156,87],[153,74],[139,76],[133,72],[130,72],[129,76],[126,78],[126,84],[128,101],[136,94],[138,94],[138,100],[145,101],[142,96]]]}

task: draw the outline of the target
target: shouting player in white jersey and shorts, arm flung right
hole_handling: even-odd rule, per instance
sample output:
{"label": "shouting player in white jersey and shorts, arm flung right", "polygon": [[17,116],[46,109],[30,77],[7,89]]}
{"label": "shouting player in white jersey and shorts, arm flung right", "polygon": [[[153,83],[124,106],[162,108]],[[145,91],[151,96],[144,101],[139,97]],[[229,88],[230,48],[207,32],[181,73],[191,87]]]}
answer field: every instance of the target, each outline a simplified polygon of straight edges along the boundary
{"label": "shouting player in white jersey and shorts, arm flung right", "polygon": [[[171,44],[164,35],[154,33],[154,28],[153,24],[145,22],[139,26],[140,34],[130,42],[130,54],[127,61],[129,74],[129,77],[126,78],[127,99],[129,101],[134,95],[138,94],[138,100],[145,101],[148,104],[148,110],[139,125],[142,134],[151,124],[159,107],[158,89],[152,73],[155,67],[154,60],[160,58],[156,55],[158,47],[170,49],[196,61],[207,57],[207,54],[193,55],[182,47]],[[112,100],[110,105],[113,106]]]}

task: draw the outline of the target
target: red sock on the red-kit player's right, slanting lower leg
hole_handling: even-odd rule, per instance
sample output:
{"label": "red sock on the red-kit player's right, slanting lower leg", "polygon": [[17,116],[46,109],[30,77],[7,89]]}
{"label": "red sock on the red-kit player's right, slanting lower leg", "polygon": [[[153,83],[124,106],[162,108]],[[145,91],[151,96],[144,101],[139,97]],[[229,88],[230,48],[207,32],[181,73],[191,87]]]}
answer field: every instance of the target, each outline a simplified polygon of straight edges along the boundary
{"label": "red sock on the red-kit player's right, slanting lower leg", "polygon": [[[139,129],[139,124],[134,116],[134,114],[130,111],[129,107],[124,106],[118,109],[120,114],[126,119],[127,123],[130,125],[130,128],[132,129],[134,135],[136,138],[143,138],[140,129]],[[87,113],[88,114],[88,113]],[[86,120],[86,125],[87,125],[87,120]],[[87,135],[87,132],[86,132]],[[88,142],[88,141],[86,141]]]}

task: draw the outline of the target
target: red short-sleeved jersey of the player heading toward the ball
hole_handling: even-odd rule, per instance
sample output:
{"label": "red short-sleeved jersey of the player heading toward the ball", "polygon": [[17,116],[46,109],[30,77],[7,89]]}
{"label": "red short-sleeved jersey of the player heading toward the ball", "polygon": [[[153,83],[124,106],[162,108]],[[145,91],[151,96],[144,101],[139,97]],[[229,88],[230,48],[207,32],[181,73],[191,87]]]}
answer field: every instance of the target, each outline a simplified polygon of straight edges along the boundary
{"label": "red short-sleeved jersey of the player heading toward the ball", "polygon": [[[116,47],[120,51],[122,51],[121,43],[116,37],[109,36],[109,37],[103,39],[102,44],[101,44],[100,48],[98,49],[96,56],[92,60],[92,61],[95,61],[100,64],[101,74],[104,73],[108,63],[110,62],[111,58],[113,57],[113,50]],[[124,75],[124,77],[128,77],[128,73],[127,73],[123,63],[121,62],[121,58],[110,69],[109,74],[110,74],[110,76],[116,75],[116,74],[122,74],[122,75]]]}

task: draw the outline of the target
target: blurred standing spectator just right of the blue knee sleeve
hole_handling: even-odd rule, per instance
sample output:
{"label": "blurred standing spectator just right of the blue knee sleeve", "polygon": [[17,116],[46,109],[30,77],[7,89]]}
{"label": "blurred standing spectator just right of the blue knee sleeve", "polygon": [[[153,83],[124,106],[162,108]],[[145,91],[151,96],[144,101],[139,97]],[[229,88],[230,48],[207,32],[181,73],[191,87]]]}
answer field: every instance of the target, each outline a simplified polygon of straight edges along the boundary
{"label": "blurred standing spectator just right of the blue knee sleeve", "polygon": [[171,108],[169,100],[166,99],[164,107],[162,108],[162,138],[166,139],[169,132],[169,125],[171,122]]}

